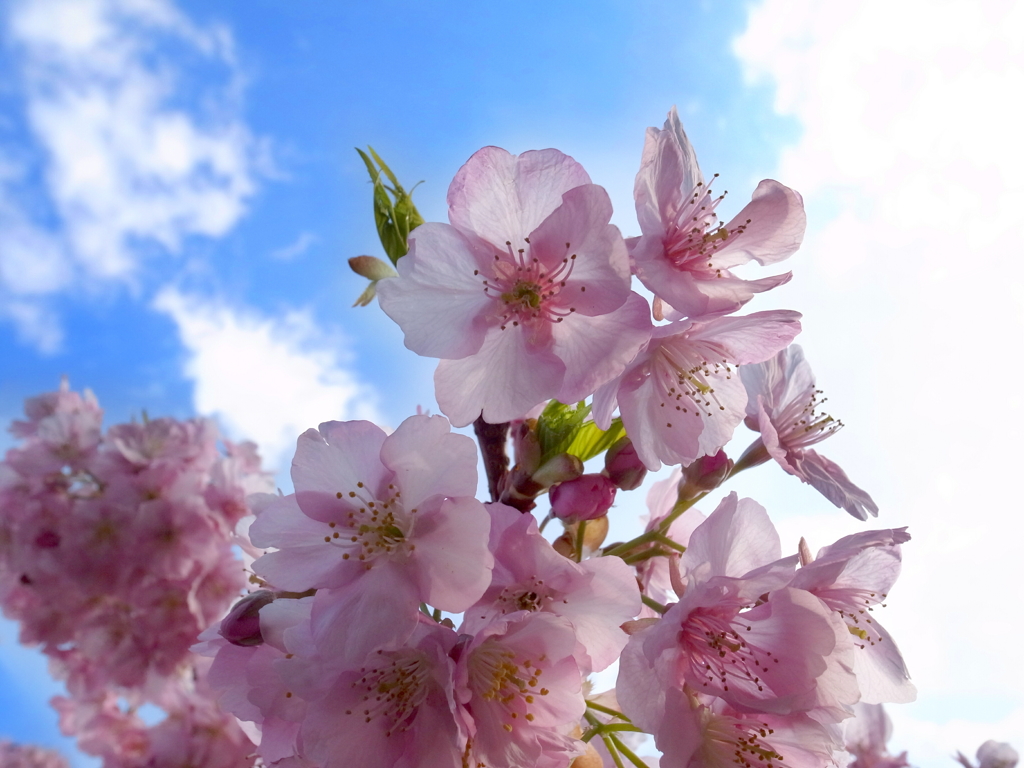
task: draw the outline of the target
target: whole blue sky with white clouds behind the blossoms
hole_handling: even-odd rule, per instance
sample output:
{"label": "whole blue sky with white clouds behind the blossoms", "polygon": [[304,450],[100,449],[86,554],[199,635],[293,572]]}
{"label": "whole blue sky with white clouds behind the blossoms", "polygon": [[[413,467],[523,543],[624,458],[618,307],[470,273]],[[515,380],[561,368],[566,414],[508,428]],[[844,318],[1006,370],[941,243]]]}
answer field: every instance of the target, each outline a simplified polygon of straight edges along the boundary
{"label": "whole blue sky with white clouds behind the blossoms", "polygon": [[[821,453],[913,536],[881,614],[920,690],[891,749],[1024,751],[1024,3],[6,0],[0,29],[0,422],[67,375],[109,424],[215,416],[286,490],[307,427],[436,411],[434,362],[349,307],[346,259],[383,255],[352,147],[445,220],[474,151],[555,146],[631,236],[644,129],[677,104],[727,215],[762,178],[800,190],[795,278],[749,309],[804,313],[848,425]],[[787,549],[865,527],[774,465],[734,487]],[[15,636],[0,737],[73,755]]]}

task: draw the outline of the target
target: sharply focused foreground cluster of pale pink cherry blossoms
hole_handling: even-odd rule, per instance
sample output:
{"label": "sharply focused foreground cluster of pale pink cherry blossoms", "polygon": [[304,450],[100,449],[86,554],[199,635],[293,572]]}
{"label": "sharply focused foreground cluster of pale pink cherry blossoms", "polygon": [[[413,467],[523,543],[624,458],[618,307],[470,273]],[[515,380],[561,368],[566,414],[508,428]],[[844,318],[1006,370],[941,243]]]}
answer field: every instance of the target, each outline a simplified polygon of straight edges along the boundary
{"label": "sharply focused foreground cluster of pale pink cherry blossoms", "polygon": [[[800,315],[736,314],[790,279],[731,270],[797,249],[799,195],[762,182],[720,223],[673,111],[635,197],[626,240],[568,156],[485,147],[452,182],[450,223],[389,251],[396,273],[353,265],[406,345],[440,358],[444,416],[389,435],[324,423],[298,440],[295,493],[254,498],[260,589],[198,649],[265,763],[643,765],[625,734],[647,733],[667,767],[810,768],[839,759],[858,702],[915,695],[872,615],[905,529],[783,556],[753,500],[692,509],[773,459],[855,517],[878,511],[811,449],[839,423],[792,345]],[[734,462],[744,420],[760,436]],[[473,441],[451,429],[470,424],[486,504]],[[616,495],[664,464],[648,529],[604,546]],[[525,514],[546,493],[553,544]],[[591,695],[615,660],[615,689]]]}

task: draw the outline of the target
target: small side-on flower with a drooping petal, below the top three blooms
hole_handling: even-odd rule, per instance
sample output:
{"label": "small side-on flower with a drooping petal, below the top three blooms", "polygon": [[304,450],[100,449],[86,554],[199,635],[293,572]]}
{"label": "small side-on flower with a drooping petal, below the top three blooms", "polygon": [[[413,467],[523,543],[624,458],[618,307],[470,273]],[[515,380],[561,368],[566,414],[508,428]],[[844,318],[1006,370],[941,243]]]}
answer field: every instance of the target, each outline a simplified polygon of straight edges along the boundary
{"label": "small side-on flower with a drooping petal, below the top three blooms", "polygon": [[774,459],[792,475],[810,484],[837,507],[859,520],[878,515],[879,508],[846,472],[811,450],[843,426],[819,414],[814,375],[799,345],[793,344],[772,359],[743,366],[739,376],[746,387],[746,426],[761,432],[760,443],[748,449],[740,462],[758,464]]}

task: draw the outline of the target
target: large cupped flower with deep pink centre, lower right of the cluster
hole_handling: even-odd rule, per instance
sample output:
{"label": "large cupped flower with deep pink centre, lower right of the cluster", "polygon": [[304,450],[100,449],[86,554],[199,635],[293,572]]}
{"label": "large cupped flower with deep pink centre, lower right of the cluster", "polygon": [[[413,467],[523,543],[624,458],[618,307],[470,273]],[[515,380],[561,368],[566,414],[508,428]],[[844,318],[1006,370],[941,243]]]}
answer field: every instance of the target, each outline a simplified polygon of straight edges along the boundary
{"label": "large cupped flower with deep pink centre, lower right of the cluster", "polygon": [[748,713],[842,719],[859,697],[846,627],[814,595],[787,587],[796,556],[756,502],[730,495],[689,537],[684,588],[660,620],[633,634],[616,690],[626,714],[651,723],[682,690]]}

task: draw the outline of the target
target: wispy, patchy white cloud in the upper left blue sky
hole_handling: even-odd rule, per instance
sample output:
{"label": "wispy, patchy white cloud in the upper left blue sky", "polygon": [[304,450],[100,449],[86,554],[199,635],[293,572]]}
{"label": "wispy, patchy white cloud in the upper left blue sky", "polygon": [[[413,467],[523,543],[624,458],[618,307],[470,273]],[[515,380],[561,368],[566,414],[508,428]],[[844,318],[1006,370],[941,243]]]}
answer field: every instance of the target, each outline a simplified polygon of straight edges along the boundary
{"label": "wispy, patchy white cloud in the upper left blue sky", "polygon": [[169,0],[23,0],[5,20],[43,205],[20,202],[40,198],[27,147],[0,158],[0,299],[130,281],[143,254],[236,224],[261,147],[224,29]]}

